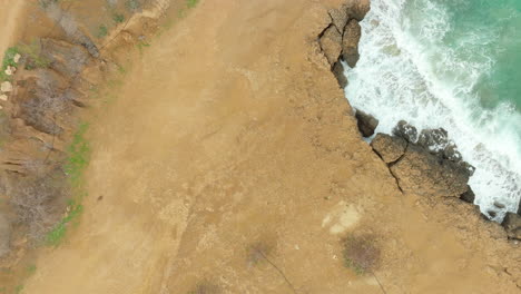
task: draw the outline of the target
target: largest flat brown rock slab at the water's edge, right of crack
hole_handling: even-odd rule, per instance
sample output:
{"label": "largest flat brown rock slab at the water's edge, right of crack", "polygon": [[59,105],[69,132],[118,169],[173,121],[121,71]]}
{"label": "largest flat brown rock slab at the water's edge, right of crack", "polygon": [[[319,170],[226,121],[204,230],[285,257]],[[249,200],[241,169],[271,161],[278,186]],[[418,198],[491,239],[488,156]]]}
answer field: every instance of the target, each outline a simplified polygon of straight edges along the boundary
{"label": "largest flat brown rock slab at the water's edge, right of crack", "polygon": [[411,194],[459,197],[468,190],[469,173],[464,168],[413,144],[391,171],[402,190]]}

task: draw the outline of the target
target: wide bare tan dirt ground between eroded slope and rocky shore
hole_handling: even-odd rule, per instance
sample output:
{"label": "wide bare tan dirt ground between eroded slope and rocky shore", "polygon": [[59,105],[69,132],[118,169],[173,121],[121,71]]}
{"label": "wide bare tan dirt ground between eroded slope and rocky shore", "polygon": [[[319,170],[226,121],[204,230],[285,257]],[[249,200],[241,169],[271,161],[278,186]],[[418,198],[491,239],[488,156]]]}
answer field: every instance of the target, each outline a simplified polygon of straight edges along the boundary
{"label": "wide bare tan dirt ground between eroded slope and rocky shore", "polygon": [[136,55],[92,110],[80,224],[23,293],[382,293],[344,266],[357,234],[386,293],[520,293],[499,225],[402,194],[362,140],[316,40],[340,3],[201,0]]}

